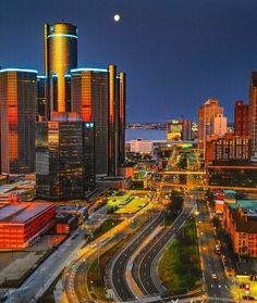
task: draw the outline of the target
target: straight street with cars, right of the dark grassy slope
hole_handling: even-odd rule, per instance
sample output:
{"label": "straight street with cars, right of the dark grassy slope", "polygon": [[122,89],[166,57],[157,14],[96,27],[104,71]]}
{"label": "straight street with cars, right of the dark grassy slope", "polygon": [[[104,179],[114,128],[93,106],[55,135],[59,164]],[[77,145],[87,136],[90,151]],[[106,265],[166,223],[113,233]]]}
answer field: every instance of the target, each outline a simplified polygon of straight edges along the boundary
{"label": "straight street with cars, right of the dark grassy slope", "polygon": [[235,302],[230,290],[230,282],[224,274],[221,256],[215,253],[215,245],[218,241],[210,222],[208,207],[205,202],[197,203],[197,207],[199,211],[197,223],[198,241],[203,278],[209,296],[208,302]]}

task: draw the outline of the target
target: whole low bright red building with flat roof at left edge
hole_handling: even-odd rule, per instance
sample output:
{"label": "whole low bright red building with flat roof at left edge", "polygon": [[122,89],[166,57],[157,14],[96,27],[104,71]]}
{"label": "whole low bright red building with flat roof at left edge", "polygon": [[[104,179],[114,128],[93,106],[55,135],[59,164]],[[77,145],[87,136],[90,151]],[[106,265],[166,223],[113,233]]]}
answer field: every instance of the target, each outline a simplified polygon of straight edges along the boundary
{"label": "whole low bright red building with flat roof at left edge", "polygon": [[5,205],[0,212],[0,249],[23,249],[32,244],[54,223],[52,203]]}

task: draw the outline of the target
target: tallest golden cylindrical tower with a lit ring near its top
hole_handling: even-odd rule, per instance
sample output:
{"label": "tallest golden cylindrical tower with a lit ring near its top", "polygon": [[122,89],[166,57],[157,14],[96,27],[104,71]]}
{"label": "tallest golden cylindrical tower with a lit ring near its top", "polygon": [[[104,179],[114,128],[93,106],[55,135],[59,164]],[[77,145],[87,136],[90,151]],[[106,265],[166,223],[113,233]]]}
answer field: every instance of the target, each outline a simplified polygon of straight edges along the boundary
{"label": "tallest golden cylindrical tower with a lit ring near its top", "polygon": [[65,75],[77,67],[77,28],[69,23],[45,24],[45,74],[47,76],[47,116],[66,112],[70,96]]}

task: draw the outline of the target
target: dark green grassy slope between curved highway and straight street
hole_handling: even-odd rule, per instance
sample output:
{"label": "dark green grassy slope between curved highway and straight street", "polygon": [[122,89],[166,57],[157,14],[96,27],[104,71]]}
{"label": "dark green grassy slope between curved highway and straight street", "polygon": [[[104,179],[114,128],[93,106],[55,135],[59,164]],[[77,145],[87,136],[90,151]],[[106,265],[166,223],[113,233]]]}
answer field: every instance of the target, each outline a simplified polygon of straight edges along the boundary
{"label": "dark green grassy slope between curved highway and straight street", "polygon": [[195,218],[189,219],[159,263],[159,276],[171,294],[185,293],[201,285]]}

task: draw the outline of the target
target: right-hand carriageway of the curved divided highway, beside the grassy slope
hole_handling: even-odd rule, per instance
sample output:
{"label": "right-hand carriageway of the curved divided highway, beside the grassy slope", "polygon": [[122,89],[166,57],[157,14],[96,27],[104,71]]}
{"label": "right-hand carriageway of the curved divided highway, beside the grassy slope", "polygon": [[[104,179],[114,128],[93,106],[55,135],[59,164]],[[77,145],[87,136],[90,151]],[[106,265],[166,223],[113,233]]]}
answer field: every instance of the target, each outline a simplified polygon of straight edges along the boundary
{"label": "right-hand carriageway of the curved divided highway, beside the grassy slope", "polygon": [[167,231],[158,237],[145,248],[136,257],[133,266],[133,278],[137,282],[139,289],[145,295],[164,294],[157,276],[157,261],[163,251],[163,248],[175,237],[183,227],[194,207],[194,203],[183,210],[173,225]]}

